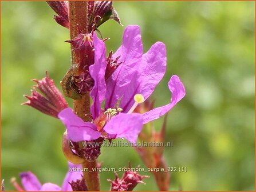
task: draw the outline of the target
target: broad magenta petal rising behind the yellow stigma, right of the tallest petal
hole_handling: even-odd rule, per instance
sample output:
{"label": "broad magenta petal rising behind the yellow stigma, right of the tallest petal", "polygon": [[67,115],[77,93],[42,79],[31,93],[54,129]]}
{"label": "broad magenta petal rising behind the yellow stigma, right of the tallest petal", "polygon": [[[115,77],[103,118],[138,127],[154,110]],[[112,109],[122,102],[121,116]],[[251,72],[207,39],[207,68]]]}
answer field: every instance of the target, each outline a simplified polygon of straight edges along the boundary
{"label": "broad magenta petal rising behind the yellow stigma, right of the tallest petal", "polygon": [[147,99],[164,77],[164,73],[166,73],[166,46],[164,43],[156,42],[152,45],[143,55],[142,61],[138,63],[137,70],[139,75],[135,77],[134,82],[127,86],[120,103],[124,113],[131,109],[135,94],[142,94]]}

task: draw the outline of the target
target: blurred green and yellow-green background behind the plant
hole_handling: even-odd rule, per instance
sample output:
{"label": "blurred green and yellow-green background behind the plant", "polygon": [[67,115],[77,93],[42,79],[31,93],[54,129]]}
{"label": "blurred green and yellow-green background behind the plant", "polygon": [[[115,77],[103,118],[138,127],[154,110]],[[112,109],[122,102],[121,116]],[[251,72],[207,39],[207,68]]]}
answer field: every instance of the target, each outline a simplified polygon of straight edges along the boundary
{"label": "blurred green and yellow-green background behind the plant", "polygon": [[[115,2],[124,26],[140,25],[144,51],[166,43],[167,73],[153,98],[170,101],[167,82],[182,79],[187,95],[168,115],[164,151],[172,173],[170,190],[255,190],[255,3],[254,2]],[[59,82],[70,66],[68,30],[53,19],[45,2],[1,2],[1,174],[6,190],[11,177],[31,170],[42,183],[61,185],[67,171],[61,151],[64,126],[21,106],[48,70]],[[108,50],[121,44],[124,27],[109,21],[100,27]],[[59,83],[57,83],[60,87]],[[69,99],[70,102],[70,99]],[[155,122],[160,129],[163,118]],[[105,148],[103,167],[141,165],[132,148]],[[151,175],[151,174],[148,174]],[[108,190],[101,173],[101,189]],[[153,176],[136,190],[157,190]]]}

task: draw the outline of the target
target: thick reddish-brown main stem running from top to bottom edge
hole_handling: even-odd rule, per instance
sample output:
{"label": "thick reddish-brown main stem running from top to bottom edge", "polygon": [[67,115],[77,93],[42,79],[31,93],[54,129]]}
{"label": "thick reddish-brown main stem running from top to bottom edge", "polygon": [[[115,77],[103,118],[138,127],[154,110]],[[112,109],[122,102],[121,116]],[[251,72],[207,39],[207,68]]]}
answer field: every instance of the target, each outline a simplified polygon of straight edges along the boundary
{"label": "thick reddish-brown main stem running from top to bottom edge", "polygon": [[[87,1],[69,1],[69,29],[70,39],[75,39],[79,33],[88,33],[88,18],[87,18]],[[80,63],[80,54],[74,50],[71,45],[72,64]],[[79,71],[78,71],[79,73]],[[79,74],[76,74],[79,75]],[[90,114],[90,95],[86,93],[82,95],[81,99],[74,100],[74,111],[78,117],[84,121],[89,121],[88,115]],[[97,162],[88,162],[85,160],[82,163],[83,168],[88,168],[89,171],[84,172],[84,178],[89,191],[100,190],[99,173],[93,171],[97,167]]]}

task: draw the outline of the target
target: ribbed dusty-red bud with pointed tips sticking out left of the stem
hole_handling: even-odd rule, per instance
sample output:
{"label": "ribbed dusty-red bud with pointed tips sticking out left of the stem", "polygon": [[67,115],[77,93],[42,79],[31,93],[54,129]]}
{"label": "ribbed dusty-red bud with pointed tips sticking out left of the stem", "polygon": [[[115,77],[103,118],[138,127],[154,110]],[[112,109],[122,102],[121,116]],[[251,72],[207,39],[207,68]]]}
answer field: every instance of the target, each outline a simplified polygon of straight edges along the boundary
{"label": "ribbed dusty-red bud with pointed tips sticking out left of the stem", "polygon": [[[49,78],[48,72],[46,71],[45,78],[41,80],[33,79],[33,81],[37,85],[33,87],[31,96],[24,95],[29,101],[22,103],[22,105],[29,105],[42,113],[58,118],[58,113],[67,108],[68,103],[54,85],[53,79]],[[37,89],[42,94],[38,93]]]}

